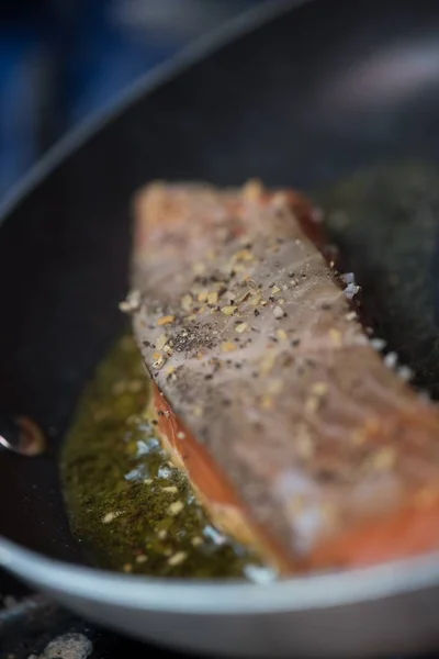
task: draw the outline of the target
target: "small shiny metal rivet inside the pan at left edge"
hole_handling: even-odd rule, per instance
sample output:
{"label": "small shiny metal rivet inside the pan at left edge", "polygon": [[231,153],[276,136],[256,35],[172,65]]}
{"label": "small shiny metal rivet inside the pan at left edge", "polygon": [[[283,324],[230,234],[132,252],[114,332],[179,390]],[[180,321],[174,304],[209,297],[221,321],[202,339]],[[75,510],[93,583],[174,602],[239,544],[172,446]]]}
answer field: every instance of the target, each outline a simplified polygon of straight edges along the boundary
{"label": "small shiny metal rivet inside the pan at left edge", "polygon": [[0,451],[21,456],[40,456],[47,448],[47,438],[40,426],[27,416],[0,413]]}

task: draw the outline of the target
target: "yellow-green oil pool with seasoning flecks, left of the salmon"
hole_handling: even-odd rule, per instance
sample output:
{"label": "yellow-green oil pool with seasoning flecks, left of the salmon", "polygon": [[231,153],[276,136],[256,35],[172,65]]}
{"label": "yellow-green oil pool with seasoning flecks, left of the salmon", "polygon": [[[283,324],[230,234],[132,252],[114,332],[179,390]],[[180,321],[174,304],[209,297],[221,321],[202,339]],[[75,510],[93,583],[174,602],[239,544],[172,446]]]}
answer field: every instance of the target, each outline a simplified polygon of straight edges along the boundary
{"label": "yellow-green oil pool with seasoning flecks, left of the salmon", "polygon": [[154,576],[266,579],[257,557],[221,534],[157,438],[150,382],[131,336],[99,366],[65,444],[70,523],[95,565]]}

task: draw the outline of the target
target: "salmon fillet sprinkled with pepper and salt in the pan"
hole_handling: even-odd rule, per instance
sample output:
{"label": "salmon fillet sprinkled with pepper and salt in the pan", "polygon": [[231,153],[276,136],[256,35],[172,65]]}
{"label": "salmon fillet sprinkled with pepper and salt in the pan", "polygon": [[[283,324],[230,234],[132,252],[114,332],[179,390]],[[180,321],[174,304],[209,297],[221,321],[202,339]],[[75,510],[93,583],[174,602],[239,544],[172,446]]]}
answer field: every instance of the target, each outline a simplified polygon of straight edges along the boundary
{"label": "salmon fillet sprinkled with pepper and salt in the pan", "polygon": [[156,183],[135,212],[125,306],[214,521],[282,572],[438,549],[438,411],[371,346],[307,202]]}

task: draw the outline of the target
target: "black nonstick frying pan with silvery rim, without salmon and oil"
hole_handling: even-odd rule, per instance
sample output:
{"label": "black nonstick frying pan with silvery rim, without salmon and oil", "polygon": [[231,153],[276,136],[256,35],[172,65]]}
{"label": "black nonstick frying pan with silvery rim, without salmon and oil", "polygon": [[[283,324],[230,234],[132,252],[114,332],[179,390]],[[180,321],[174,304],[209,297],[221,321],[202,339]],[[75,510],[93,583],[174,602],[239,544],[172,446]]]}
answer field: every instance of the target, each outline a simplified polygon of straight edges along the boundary
{"label": "black nonstick frying pan with silvery rim, without salmon and oil", "polygon": [[55,147],[1,215],[1,405],[50,437],[45,457],[0,454],[7,570],[86,617],[180,649],[344,657],[438,647],[437,555],[268,585],[108,573],[82,565],[57,471],[78,395],[124,326],[134,190],[156,178],[255,176],[314,190],[367,165],[437,161],[438,118],[438,2],[272,2]]}

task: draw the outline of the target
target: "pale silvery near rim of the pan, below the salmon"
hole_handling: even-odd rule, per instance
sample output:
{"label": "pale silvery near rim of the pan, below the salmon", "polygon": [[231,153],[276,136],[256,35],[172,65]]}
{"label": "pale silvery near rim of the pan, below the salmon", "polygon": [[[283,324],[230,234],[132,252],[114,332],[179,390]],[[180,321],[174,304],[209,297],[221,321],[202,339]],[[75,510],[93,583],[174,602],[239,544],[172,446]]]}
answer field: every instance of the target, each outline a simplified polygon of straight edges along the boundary
{"label": "pale silvery near rim of the pan, below the salmon", "polygon": [[46,558],[0,537],[0,566],[43,590],[136,610],[202,615],[292,613],[373,602],[439,587],[439,552],[268,584],[109,572]]}

